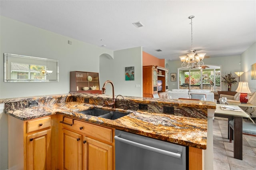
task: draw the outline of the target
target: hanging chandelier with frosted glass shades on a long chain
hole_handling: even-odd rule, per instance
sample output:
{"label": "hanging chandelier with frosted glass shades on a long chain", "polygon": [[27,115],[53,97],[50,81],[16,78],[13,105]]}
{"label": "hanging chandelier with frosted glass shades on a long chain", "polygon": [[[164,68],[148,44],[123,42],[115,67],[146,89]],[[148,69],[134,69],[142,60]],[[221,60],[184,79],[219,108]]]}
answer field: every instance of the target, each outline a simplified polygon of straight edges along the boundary
{"label": "hanging chandelier with frosted glass shades on a long chain", "polygon": [[189,16],[188,18],[191,19],[191,49],[190,49],[190,53],[188,53],[187,55],[182,55],[180,56],[180,60],[182,62],[181,66],[182,68],[198,68],[201,69],[202,65],[204,65],[204,62],[202,61],[204,59],[204,55],[206,55],[206,53],[195,53],[196,50],[193,49],[193,34],[192,34],[192,19],[195,16]]}

